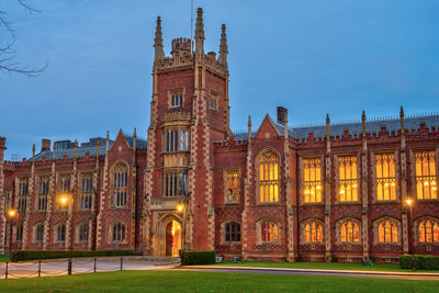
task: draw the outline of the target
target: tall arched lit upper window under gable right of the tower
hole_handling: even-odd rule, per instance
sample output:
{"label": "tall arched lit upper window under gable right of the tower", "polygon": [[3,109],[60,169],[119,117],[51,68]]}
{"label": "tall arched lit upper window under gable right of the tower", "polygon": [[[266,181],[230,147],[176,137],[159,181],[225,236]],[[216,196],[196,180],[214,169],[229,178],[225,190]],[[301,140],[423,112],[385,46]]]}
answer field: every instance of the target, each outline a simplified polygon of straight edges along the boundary
{"label": "tall arched lit upper window under gable right of the tower", "polygon": [[279,201],[279,158],[266,150],[259,158],[259,201]]}

